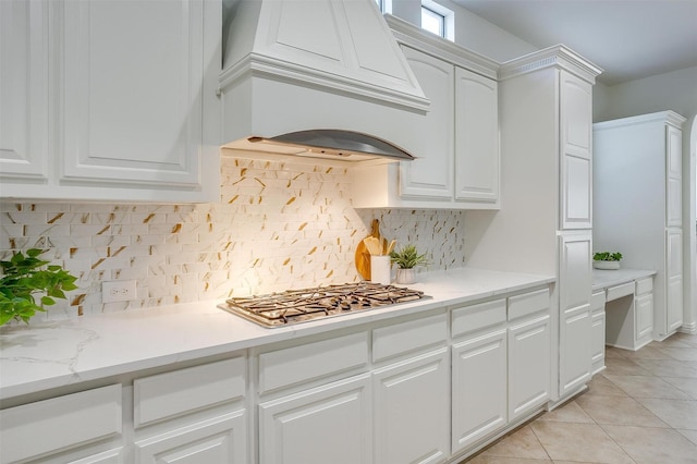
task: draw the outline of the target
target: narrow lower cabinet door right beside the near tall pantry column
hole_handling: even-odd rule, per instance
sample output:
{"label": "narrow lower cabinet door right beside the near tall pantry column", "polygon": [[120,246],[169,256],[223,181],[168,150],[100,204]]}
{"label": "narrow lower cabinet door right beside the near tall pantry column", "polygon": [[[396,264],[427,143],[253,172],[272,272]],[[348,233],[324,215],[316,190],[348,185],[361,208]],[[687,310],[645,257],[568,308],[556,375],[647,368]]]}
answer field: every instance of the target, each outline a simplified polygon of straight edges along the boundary
{"label": "narrow lower cabinet door right beside the near tall pantry column", "polygon": [[550,317],[509,328],[509,422],[550,398]]}

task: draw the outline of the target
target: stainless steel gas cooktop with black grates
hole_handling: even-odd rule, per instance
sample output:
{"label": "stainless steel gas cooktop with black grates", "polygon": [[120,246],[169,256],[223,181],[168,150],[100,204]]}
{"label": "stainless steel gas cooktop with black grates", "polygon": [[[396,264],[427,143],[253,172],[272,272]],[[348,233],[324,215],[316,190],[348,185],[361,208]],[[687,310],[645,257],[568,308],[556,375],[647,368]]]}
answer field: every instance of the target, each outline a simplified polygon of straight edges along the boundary
{"label": "stainless steel gas cooktop with black grates", "polygon": [[360,282],[229,298],[220,308],[264,327],[283,327],[428,298],[402,286]]}

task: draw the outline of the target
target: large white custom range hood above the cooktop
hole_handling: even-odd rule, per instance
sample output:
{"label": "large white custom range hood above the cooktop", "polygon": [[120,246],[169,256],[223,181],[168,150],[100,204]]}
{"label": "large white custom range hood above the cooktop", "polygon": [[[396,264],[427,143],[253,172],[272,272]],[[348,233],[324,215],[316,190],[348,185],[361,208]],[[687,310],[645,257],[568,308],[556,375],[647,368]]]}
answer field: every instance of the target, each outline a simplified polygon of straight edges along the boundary
{"label": "large white custom range hood above the cooktop", "polygon": [[222,146],[412,159],[429,100],[375,0],[224,0]]}

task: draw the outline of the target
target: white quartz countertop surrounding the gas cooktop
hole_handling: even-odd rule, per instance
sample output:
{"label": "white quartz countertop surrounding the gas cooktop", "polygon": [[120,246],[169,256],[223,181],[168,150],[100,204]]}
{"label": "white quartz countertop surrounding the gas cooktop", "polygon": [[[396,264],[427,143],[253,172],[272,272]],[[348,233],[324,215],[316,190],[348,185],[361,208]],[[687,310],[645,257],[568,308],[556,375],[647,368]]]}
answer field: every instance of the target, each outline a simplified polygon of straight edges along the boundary
{"label": "white quartz countertop surrounding the gas cooktop", "polygon": [[430,298],[273,329],[218,308],[220,301],[5,326],[0,328],[0,400],[554,282],[550,276],[468,268],[418,279],[407,286]]}

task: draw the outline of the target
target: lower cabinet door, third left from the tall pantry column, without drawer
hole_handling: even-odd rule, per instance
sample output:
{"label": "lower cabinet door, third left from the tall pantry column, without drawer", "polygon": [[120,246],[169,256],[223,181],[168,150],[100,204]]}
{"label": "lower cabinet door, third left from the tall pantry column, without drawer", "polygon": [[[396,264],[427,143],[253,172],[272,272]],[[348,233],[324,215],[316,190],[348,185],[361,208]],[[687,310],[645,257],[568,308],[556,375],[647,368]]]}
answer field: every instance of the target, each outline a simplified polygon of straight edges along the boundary
{"label": "lower cabinet door, third left from the tall pantry column, without drawer", "polygon": [[441,349],[374,373],[376,462],[436,463],[450,454],[449,367]]}

